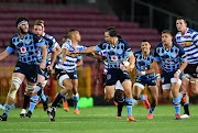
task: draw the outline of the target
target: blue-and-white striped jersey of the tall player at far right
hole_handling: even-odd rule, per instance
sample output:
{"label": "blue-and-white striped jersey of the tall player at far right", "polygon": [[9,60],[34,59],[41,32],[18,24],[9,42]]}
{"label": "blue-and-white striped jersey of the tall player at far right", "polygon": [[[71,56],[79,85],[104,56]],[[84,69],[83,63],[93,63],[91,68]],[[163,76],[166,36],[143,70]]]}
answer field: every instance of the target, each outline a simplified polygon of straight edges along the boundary
{"label": "blue-and-white striped jersey of the tall player at far right", "polygon": [[176,42],[184,47],[188,64],[198,64],[198,34],[191,29],[187,29],[183,35],[180,32],[176,34]]}

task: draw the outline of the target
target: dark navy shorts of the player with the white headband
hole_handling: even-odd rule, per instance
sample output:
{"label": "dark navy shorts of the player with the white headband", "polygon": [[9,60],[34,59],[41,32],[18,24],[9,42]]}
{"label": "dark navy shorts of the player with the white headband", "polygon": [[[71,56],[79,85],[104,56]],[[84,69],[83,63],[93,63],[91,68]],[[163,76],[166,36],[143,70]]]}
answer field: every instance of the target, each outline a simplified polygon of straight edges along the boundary
{"label": "dark navy shorts of the player with the white headband", "polygon": [[38,69],[38,65],[29,65],[18,62],[13,73],[21,73],[25,75],[26,80],[29,80],[32,84],[35,84],[37,81]]}

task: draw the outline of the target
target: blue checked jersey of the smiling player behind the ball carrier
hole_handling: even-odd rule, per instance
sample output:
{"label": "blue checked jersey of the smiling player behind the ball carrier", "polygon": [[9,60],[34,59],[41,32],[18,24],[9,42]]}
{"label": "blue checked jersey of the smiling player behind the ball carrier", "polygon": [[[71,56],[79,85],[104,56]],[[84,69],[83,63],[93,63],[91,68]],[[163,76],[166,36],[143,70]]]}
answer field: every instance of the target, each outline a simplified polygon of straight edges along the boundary
{"label": "blue checked jersey of the smiling player behind the ball carrier", "polygon": [[[136,70],[147,71],[150,69],[150,65],[153,63],[154,59],[153,52],[150,52],[147,57],[143,56],[142,51],[136,51],[133,54],[135,57]],[[136,76],[136,79],[153,79],[153,78],[155,78],[155,74]]]}

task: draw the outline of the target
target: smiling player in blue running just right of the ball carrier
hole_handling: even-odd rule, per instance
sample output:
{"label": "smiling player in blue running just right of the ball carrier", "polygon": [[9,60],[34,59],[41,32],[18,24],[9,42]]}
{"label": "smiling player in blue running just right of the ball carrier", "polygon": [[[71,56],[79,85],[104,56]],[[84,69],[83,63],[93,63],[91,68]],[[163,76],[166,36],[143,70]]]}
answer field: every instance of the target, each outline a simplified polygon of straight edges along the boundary
{"label": "smiling player in blue running just right of the ball carrier", "polygon": [[[135,66],[136,66],[136,79],[133,85],[133,98],[135,100],[143,100],[146,109],[150,109],[147,113],[147,119],[153,119],[153,111],[157,104],[158,90],[156,86],[156,76],[153,66],[153,52],[151,49],[151,44],[147,40],[141,42],[141,51],[134,52]],[[144,90],[145,85],[150,89],[152,96],[152,103],[147,100],[146,95],[141,95]]]}

